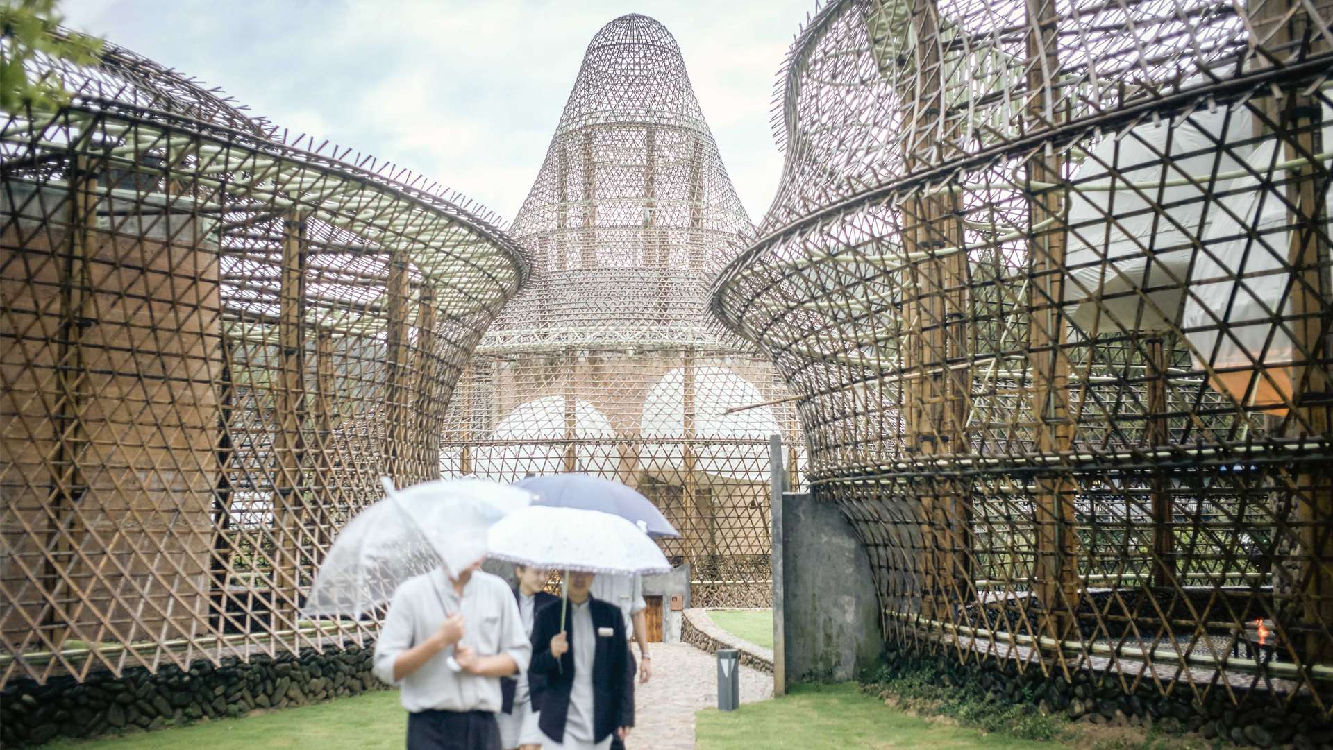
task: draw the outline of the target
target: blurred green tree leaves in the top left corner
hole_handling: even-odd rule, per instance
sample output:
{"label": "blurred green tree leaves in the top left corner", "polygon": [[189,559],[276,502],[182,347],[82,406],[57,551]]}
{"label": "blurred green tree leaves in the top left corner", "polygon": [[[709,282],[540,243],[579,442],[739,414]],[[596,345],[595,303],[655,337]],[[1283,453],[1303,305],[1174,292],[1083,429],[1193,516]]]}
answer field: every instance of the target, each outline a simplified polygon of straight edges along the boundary
{"label": "blurred green tree leaves in the top left corner", "polygon": [[101,40],[57,32],[57,0],[0,0],[0,109],[55,111],[69,92],[55,71],[36,73],[25,63],[41,53],[80,65],[97,61]]}

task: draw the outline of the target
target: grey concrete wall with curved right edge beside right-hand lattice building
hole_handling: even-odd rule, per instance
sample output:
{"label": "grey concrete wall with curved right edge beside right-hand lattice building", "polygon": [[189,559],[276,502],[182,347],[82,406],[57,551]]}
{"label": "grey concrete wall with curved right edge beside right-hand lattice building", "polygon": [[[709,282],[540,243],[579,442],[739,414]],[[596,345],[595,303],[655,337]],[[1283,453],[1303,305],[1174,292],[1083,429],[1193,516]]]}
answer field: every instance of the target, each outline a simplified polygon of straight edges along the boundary
{"label": "grey concrete wall with curved right edge beside right-hand lattice building", "polygon": [[860,677],[878,663],[884,642],[865,548],[836,505],[804,493],[774,500],[773,518],[781,524],[774,601],[782,602],[774,613],[782,639],[774,658],[782,659],[776,674],[785,681],[774,691],[792,682]]}

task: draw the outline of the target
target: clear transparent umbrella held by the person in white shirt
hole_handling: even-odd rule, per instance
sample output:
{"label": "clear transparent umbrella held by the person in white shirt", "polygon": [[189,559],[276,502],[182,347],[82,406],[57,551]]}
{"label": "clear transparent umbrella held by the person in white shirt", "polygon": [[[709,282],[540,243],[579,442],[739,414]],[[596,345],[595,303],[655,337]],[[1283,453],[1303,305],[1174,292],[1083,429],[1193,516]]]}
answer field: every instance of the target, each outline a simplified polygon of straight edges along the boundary
{"label": "clear transparent umbrella held by the person in white shirt", "polygon": [[360,617],[408,578],[463,570],[487,554],[487,529],[536,496],[487,480],[441,480],[395,490],[348,524],[315,575],[304,617]]}

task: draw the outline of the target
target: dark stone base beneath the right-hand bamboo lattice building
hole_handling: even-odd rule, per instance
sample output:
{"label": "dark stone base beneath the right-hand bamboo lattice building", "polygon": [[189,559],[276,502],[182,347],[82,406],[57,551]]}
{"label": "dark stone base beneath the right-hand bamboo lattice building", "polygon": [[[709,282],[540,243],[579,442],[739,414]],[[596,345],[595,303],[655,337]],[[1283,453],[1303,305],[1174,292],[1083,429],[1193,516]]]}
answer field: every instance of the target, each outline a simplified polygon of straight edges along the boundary
{"label": "dark stone base beneath the right-hand bamboo lattice building", "polygon": [[[1264,690],[1208,686],[1204,697],[1186,683],[1122,686],[1118,677],[1077,671],[1065,679],[1041,665],[958,663],[944,654],[889,646],[872,687],[893,693],[894,681],[936,685],[960,699],[1025,706],[1041,715],[1108,726],[1194,733],[1240,746],[1333,750],[1333,721],[1309,698]],[[1200,686],[1201,689],[1205,686]],[[1168,694],[1164,694],[1168,691]]]}

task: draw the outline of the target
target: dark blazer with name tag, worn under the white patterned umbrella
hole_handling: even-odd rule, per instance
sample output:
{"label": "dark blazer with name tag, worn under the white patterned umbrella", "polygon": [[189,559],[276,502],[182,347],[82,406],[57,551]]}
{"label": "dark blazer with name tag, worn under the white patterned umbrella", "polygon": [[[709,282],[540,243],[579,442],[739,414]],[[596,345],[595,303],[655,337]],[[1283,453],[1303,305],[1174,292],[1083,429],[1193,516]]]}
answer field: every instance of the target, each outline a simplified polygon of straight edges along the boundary
{"label": "dark blazer with name tag, worn under the white patterned umbrella", "polygon": [[[592,599],[589,606],[593,627],[612,629],[611,638],[593,638],[597,643],[592,662],[593,742],[601,742],[617,727],[635,725],[635,662],[629,657],[620,607],[601,599]],[[565,607],[569,650],[559,662],[551,655],[551,639],[560,633],[560,605],[537,610],[532,626],[532,666],[528,667],[528,681],[533,686],[532,706],[541,710],[537,726],[556,742],[565,741],[569,694],[575,685],[573,613],[568,611],[569,605]],[[539,679],[543,681],[540,694]]]}

